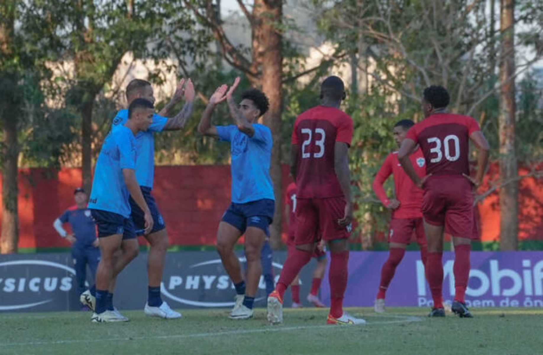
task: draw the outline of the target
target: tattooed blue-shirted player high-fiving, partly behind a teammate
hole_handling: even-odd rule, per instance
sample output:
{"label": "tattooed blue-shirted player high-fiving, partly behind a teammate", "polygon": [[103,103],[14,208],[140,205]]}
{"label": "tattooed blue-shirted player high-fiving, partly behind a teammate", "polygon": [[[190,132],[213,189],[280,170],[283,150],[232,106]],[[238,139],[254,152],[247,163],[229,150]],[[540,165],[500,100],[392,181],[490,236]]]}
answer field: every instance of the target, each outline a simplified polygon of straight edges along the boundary
{"label": "tattooed blue-shirted player high-fiving, partly behind a teammate", "polygon": [[[134,79],[130,81],[125,89],[125,94],[129,105],[138,98],[143,98],[153,103],[155,102],[153,87],[151,87],[151,84],[146,80]],[[186,82],[184,79],[181,79],[172,100],[159,112],[159,114],[153,114],[153,120],[148,130],[139,132],[135,137],[137,156],[136,179],[141,186],[143,197],[149,206],[154,221],[154,227],[150,233],[143,234],[143,211],[138,207],[134,199],[130,199],[132,208],[131,216],[135,224],[136,234],[144,235],[150,245],[147,258],[147,275],[149,282],[148,299],[144,306],[144,312],[147,315],[164,319],[180,318],[181,313],[173,311],[166,302],[162,301],[160,296],[162,271],[164,269],[166,250],[168,248],[168,235],[166,234],[166,225],[160,214],[159,208],[153,195],[151,195],[155,167],[154,133],[181,130],[185,126],[188,117],[190,117],[192,112],[194,96],[194,86],[191,79],[188,79]],[[164,117],[168,115],[168,112],[171,111],[182,98],[185,98],[186,104],[181,111],[172,118]],[[118,127],[122,127],[122,125],[127,122],[127,119],[128,110],[121,109],[115,116],[115,119],[113,119],[112,131],[117,130]],[[130,258],[122,255],[121,262],[128,263],[130,262]],[[111,288],[113,288],[113,285]],[[82,296],[82,300],[85,299],[89,300],[86,304],[91,307],[91,291],[87,291],[87,293]]]}

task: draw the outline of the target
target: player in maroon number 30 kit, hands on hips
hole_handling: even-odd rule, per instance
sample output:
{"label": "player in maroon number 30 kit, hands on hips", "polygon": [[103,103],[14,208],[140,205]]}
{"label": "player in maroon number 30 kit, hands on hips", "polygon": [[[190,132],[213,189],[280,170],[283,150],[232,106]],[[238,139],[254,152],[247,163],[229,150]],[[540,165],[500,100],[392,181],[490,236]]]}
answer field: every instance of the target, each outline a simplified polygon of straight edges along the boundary
{"label": "player in maroon number 30 kit, hands on hips", "polygon": [[[424,90],[422,110],[425,119],[414,125],[398,152],[398,159],[413,182],[424,188],[422,215],[428,243],[426,279],[434,306],[429,317],[444,317],[443,233],[452,236],[454,245],[454,300],[451,309],[461,318],[473,317],[464,296],[470,273],[473,233],[473,188],[483,180],[490,146],[477,122],[465,115],[447,112],[449,92],[441,86]],[[477,172],[470,177],[469,141],[477,147]],[[420,178],[409,159],[419,144],[426,159],[427,175]]]}

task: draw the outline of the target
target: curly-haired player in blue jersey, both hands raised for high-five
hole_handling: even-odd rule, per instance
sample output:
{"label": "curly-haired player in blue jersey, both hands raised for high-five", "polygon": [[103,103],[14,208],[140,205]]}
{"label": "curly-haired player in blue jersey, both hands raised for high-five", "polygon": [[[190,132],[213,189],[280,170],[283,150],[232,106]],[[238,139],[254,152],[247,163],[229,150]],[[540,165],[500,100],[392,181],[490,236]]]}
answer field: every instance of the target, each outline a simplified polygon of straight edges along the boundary
{"label": "curly-haired player in blue jersey, both hands raised for high-five", "polygon": [[[217,251],[237,293],[230,318],[248,319],[253,313],[252,306],[262,272],[260,253],[266,236],[269,236],[275,197],[269,175],[271,132],[268,127],[257,123],[258,118],[268,111],[268,98],[260,90],[249,89],[242,93],[238,106],[233,99],[238,83],[239,78],[236,78],[228,92],[228,86],[222,85],[211,95],[200,119],[198,132],[230,143],[232,203],[219,223]],[[234,124],[214,126],[211,114],[224,99],[228,102]],[[243,281],[239,260],[233,252],[242,234],[245,234],[247,285]]]}

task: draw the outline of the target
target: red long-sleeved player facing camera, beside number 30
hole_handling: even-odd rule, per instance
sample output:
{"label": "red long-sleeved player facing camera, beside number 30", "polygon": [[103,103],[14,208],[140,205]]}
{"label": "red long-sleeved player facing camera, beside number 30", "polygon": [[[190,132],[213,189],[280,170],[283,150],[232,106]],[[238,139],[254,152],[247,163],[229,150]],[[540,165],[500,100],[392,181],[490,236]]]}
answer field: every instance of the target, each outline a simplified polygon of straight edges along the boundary
{"label": "red long-sleeved player facing camera, beside number 30", "polygon": [[[414,125],[412,120],[401,120],[394,125],[394,140],[401,146],[406,133]],[[389,255],[387,261],[381,268],[381,281],[379,291],[375,298],[374,310],[377,313],[384,312],[384,298],[388,285],[394,277],[396,267],[403,259],[407,244],[411,243],[413,231],[415,231],[416,242],[420,247],[420,259],[426,264],[426,236],[422,224],[422,190],[416,186],[403,171],[398,161],[397,151],[388,154],[384,159],[381,169],[377,172],[373,181],[375,195],[381,200],[383,206],[392,210],[390,220],[390,232],[388,236]],[[419,146],[415,146],[409,154],[409,160],[415,168],[416,175],[426,176],[426,164]],[[394,178],[395,198],[389,199],[383,189],[383,183],[392,175]]]}

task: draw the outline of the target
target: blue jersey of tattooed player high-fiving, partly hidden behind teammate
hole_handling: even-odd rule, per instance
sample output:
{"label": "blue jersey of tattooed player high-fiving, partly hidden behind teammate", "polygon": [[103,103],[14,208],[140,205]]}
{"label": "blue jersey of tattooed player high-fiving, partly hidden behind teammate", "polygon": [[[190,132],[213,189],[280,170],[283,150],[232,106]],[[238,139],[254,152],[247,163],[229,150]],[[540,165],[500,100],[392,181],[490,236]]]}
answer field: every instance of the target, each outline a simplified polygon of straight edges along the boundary
{"label": "blue jersey of tattooed player high-fiving, partly hidden behind teammate", "polygon": [[[128,109],[121,109],[113,119],[111,130],[116,130],[128,120]],[[161,132],[168,120],[156,113],[147,131],[136,134],[136,179],[140,186],[153,189],[153,177],[155,175],[155,138],[153,132]]]}

